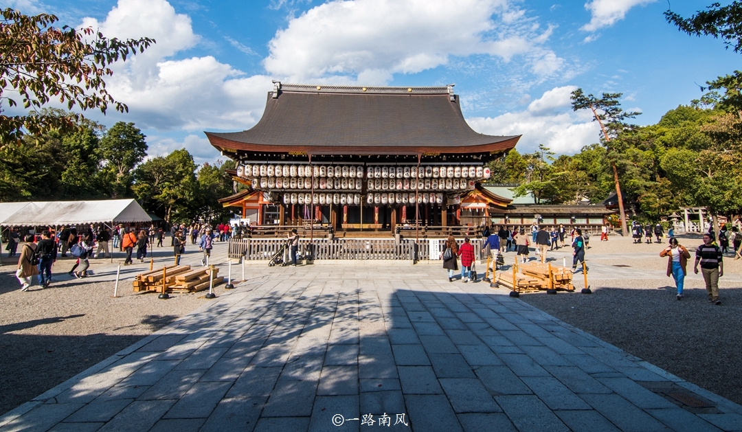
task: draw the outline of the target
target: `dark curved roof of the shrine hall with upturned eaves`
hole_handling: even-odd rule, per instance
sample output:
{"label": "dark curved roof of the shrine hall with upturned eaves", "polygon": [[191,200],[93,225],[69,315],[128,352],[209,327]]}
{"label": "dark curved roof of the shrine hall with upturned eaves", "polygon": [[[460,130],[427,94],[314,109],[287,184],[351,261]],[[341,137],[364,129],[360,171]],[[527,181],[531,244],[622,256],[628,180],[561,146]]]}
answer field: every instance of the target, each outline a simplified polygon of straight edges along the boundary
{"label": "dark curved roof of the shrine hall with upturned eaves", "polygon": [[280,85],[263,117],[241,132],[206,132],[212,145],[245,151],[471,153],[506,151],[520,136],[479,134],[450,87]]}

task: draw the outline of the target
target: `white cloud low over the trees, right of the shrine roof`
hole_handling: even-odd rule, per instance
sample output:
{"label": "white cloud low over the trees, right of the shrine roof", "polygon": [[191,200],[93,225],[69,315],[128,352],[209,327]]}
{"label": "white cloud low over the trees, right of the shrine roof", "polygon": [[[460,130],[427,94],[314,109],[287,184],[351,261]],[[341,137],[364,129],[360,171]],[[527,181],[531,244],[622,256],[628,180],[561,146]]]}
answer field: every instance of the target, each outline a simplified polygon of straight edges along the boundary
{"label": "white cloud low over the trees, right of the shrine roof", "polygon": [[574,154],[585,145],[597,143],[600,133],[592,114],[571,110],[569,94],[576,88],[553,88],[531,102],[525,111],[473,117],[467,122],[482,134],[522,135],[516,147],[521,153],[534,151],[543,144],[557,154]]}

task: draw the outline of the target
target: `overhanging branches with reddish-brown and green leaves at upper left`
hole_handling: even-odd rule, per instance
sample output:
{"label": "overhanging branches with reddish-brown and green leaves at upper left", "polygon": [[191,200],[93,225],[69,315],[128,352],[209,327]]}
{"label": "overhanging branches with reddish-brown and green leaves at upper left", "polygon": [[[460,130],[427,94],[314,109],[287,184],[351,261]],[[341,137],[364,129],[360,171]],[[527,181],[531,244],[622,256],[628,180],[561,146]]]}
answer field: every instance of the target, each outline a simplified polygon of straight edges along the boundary
{"label": "overhanging branches with reddish-brown and green leaves at upper left", "polygon": [[[154,39],[108,39],[92,28],[76,30],[53,27],[56,16],[27,16],[13,9],[0,11],[0,103],[18,105],[5,91],[21,96],[24,108],[41,108],[50,100],[66,103],[69,109],[99,109],[109,104],[128,111],[105,88],[109,66],[119,59],[143,52]],[[76,127],[82,116],[5,116],[0,109],[0,146],[22,143],[24,134],[40,137],[45,131]]]}

